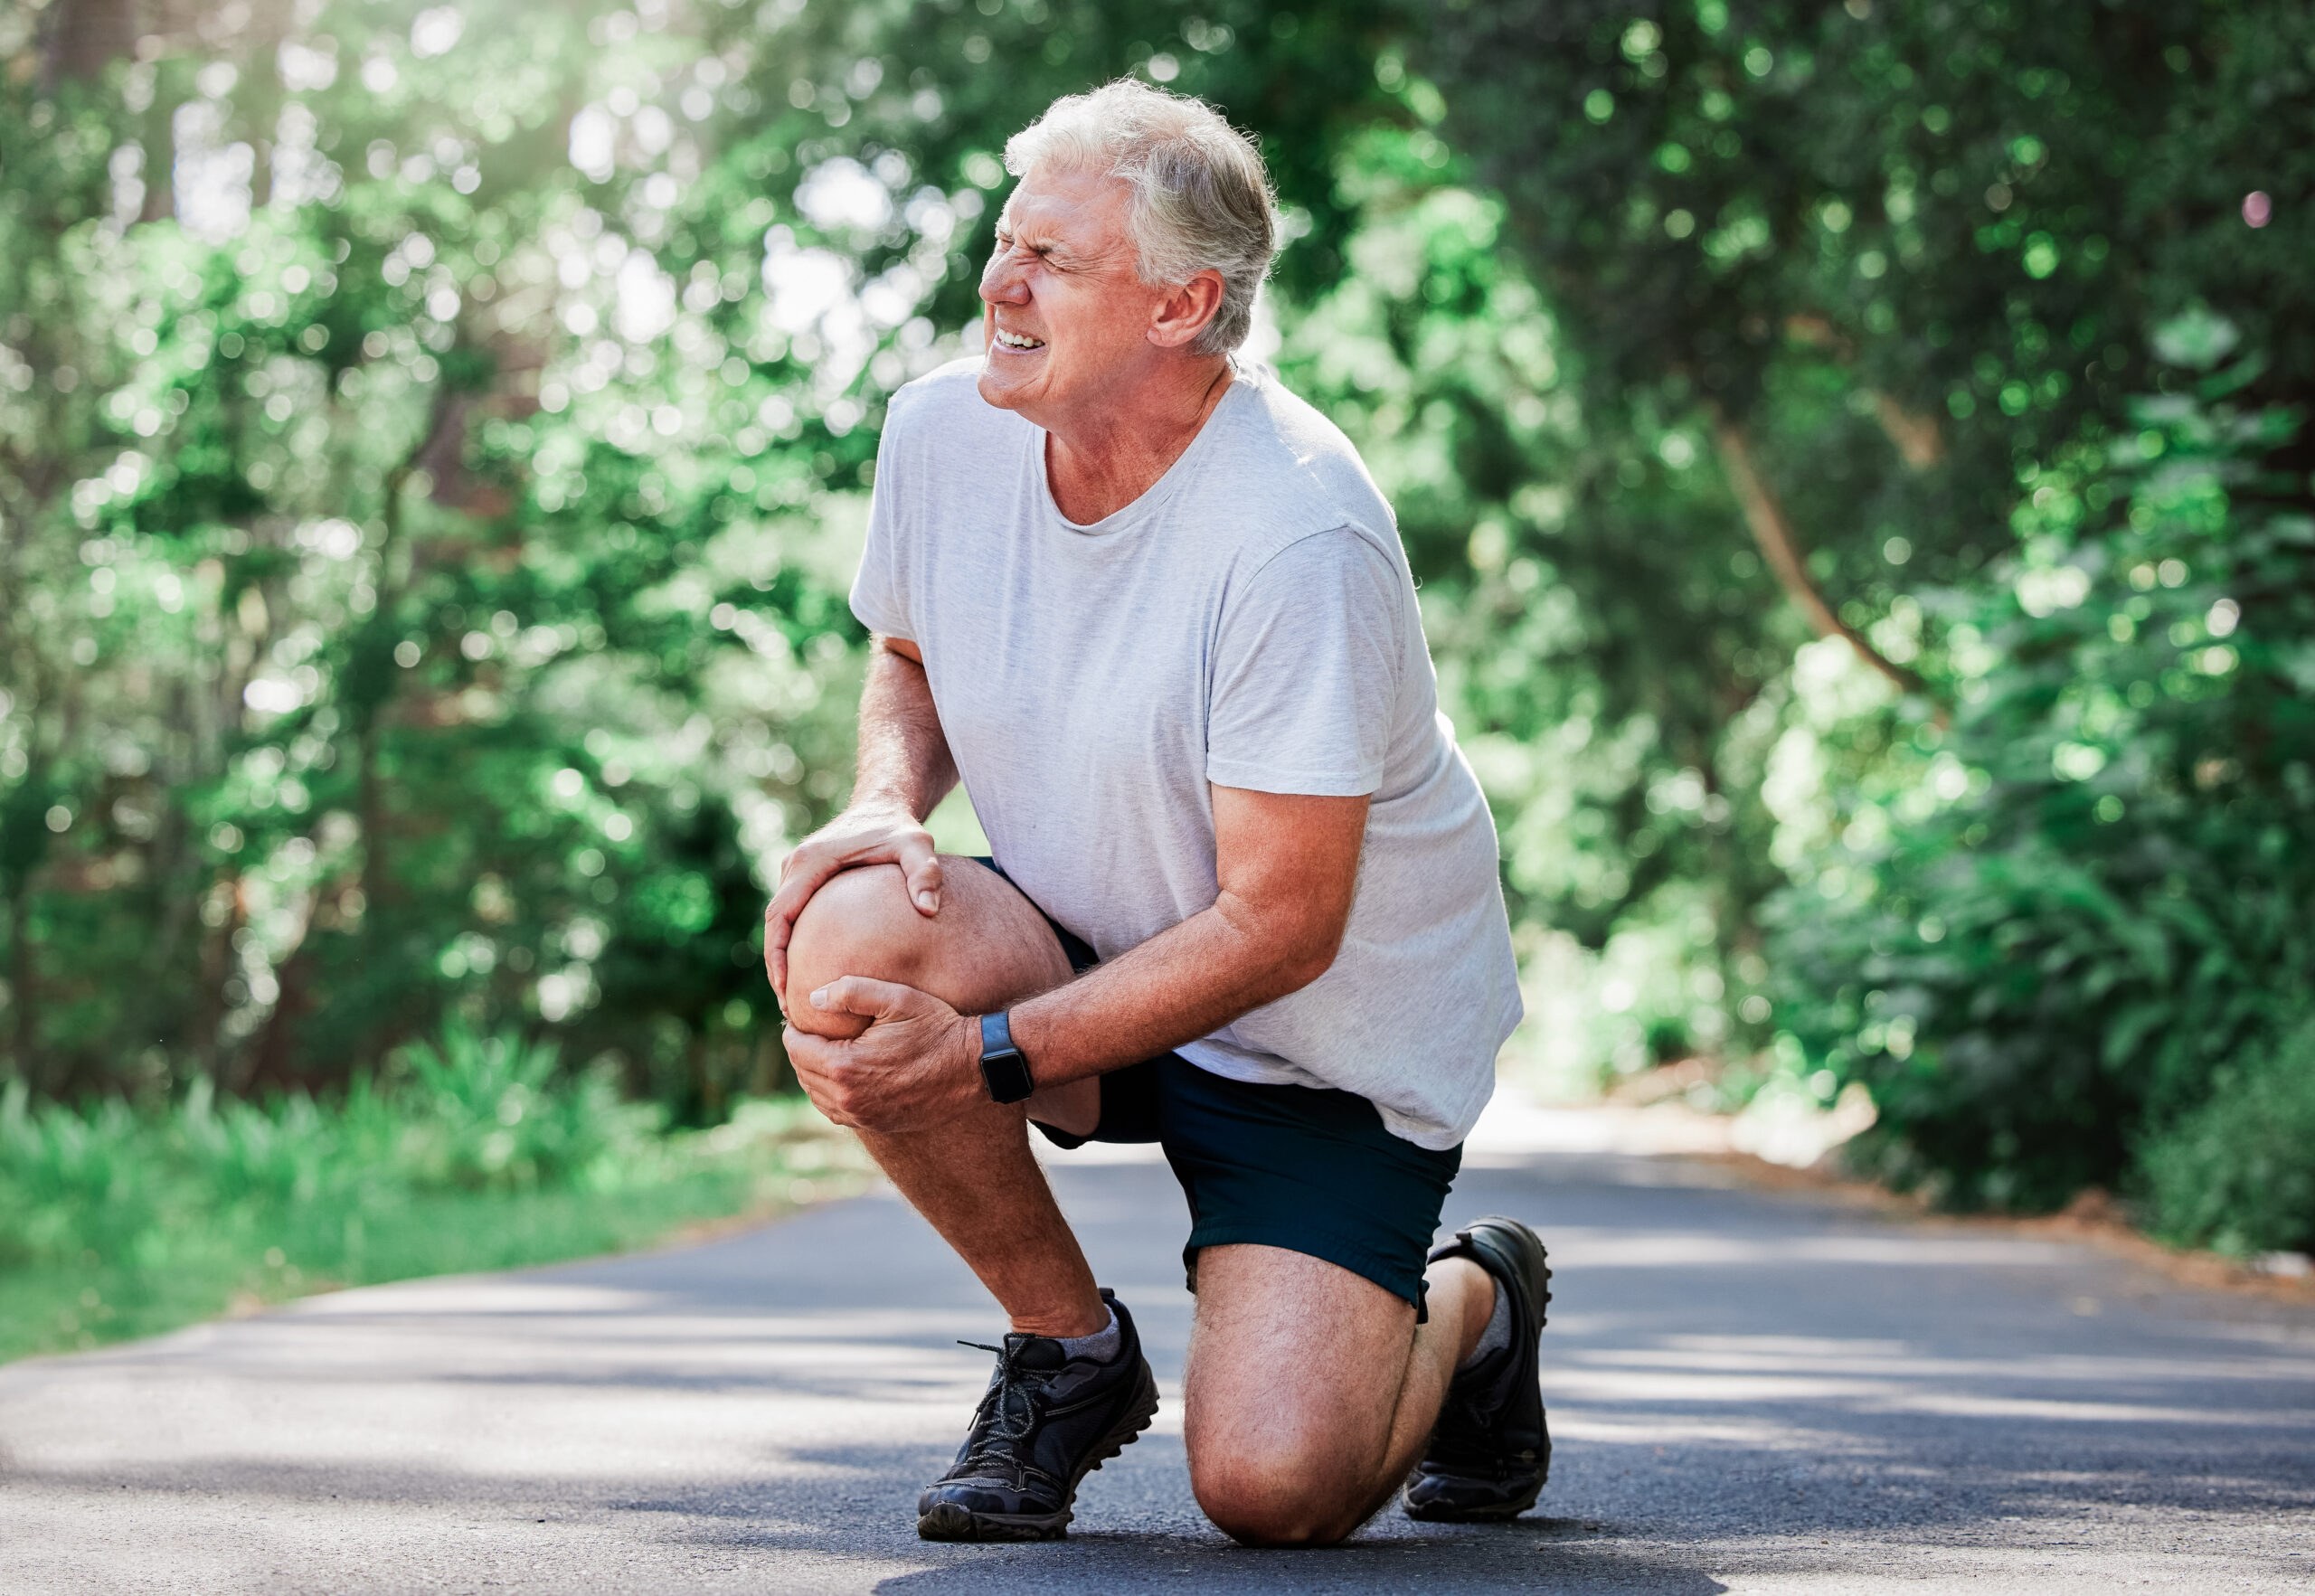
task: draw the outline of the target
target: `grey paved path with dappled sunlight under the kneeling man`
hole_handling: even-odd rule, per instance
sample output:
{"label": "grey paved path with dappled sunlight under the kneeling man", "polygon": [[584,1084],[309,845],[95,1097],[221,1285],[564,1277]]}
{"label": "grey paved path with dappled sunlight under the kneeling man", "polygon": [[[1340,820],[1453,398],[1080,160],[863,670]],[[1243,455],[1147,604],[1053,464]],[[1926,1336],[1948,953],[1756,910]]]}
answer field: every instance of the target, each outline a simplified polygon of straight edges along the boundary
{"label": "grey paved path with dappled sunlight under the kneeling man", "polygon": [[1678,1161],[1498,1156],[1551,1242],[1542,1515],[1243,1552],[1183,1478],[1162,1165],[1063,1165],[1169,1406],[1063,1545],[933,1547],[998,1327],[891,1195],[0,1369],[0,1589],[2190,1591],[2315,1587],[2315,1318]]}

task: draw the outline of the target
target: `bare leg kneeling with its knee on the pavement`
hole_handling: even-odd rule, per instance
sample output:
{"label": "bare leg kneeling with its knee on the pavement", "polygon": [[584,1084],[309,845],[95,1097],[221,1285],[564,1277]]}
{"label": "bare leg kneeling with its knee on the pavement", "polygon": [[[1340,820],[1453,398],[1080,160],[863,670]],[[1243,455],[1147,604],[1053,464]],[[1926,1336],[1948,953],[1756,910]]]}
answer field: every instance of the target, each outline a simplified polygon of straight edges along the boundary
{"label": "bare leg kneeling with its knee on the pavement", "polygon": [[1326,1545],[1391,1499],[1495,1306],[1470,1260],[1431,1265],[1431,1320],[1278,1246],[1197,1255],[1185,1378],[1190,1487],[1248,1545]]}

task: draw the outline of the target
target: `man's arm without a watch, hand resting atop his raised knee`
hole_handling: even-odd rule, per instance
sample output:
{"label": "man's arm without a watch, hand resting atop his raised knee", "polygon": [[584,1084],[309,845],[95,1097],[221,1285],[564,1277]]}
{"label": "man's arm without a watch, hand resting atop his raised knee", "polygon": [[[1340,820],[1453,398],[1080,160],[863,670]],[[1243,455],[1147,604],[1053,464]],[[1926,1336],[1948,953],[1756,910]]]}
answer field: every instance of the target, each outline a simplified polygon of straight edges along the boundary
{"label": "man's arm without a watch, hand resting atop his raised knee", "polygon": [[764,971],[787,1003],[787,938],[796,915],[836,871],[898,864],[919,915],[940,913],[940,857],[924,818],[956,785],[956,760],[933,709],[924,653],[905,637],[877,637],[861,688],[859,769],[845,813],[820,827],[780,864],[780,889],[764,908]]}

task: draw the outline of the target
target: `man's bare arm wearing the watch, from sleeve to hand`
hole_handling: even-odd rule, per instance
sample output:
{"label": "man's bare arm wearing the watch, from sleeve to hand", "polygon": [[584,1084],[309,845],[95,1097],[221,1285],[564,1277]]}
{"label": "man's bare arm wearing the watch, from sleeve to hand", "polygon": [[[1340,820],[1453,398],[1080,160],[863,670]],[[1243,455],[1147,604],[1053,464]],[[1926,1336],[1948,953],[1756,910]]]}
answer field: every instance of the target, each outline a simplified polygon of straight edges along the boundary
{"label": "man's bare arm wearing the watch, from sleeve to hand", "polygon": [[[1037,1086],[1169,1052],[1317,980],[1350,924],[1366,806],[1213,788],[1213,906],[1012,1010]],[[979,1024],[940,998],[847,975],[808,1001],[877,1022],[850,1042],[789,1031],[789,1059],[838,1123],[914,1130],[984,1100]]]}

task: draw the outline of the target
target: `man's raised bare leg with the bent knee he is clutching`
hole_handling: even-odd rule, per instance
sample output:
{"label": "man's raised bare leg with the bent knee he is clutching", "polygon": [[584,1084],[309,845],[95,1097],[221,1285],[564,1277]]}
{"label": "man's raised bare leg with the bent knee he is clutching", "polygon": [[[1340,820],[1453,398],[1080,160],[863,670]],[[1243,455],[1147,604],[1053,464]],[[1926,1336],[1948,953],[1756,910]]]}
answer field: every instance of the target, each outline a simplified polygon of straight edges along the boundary
{"label": "man's raised bare leg with the bent knee he is clutching", "polygon": [[[870,864],[831,878],[796,917],[782,1005],[789,1024],[859,1035],[868,1022],[829,1015],[806,998],[838,975],[868,975],[931,991],[963,1015],[986,1015],[1070,980],[1070,961],[1037,908],[972,859],[942,857],[940,915],[907,903],[898,866]],[[1097,1082],[1072,1082],[1026,1105],[1037,1119],[1090,1130]],[[1109,1309],[1044,1170],[1028,1149],[1023,1105],[984,1110],[910,1135],[861,1130],[861,1144],[901,1195],[972,1267],[1014,1330],[1093,1334]]]}

